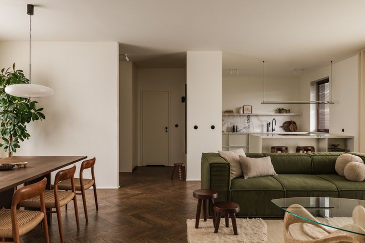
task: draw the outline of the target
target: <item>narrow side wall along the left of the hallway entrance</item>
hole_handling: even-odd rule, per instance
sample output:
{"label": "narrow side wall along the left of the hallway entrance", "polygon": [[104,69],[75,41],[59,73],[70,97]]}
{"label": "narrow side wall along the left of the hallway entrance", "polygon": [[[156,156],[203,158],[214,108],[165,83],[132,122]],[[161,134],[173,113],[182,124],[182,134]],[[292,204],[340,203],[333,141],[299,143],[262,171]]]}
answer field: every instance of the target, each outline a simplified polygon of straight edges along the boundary
{"label": "narrow side wall along the left of the hallway entrance", "polygon": [[132,61],[119,62],[119,171],[137,165],[137,72]]}

